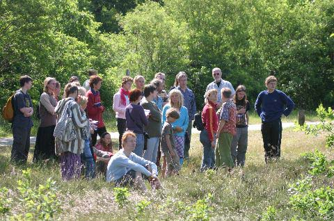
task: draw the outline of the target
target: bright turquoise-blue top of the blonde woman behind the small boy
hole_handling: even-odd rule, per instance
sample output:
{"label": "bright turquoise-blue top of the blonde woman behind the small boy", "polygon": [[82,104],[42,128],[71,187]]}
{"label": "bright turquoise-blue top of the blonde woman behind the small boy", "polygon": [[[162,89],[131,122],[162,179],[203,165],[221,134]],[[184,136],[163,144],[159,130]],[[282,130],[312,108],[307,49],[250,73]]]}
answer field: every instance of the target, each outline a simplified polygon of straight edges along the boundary
{"label": "bright turquoise-blue top of the blonde woman behind the small boy", "polygon": [[[166,112],[170,108],[170,104],[166,104],[164,108],[162,108],[162,124],[166,121]],[[176,126],[180,126],[182,128],[182,132],[174,133],[176,136],[184,137],[186,133],[186,129],[188,128],[189,124],[189,117],[188,117],[188,110],[185,106],[180,108],[180,118],[175,120],[172,124],[172,128],[175,129]]]}

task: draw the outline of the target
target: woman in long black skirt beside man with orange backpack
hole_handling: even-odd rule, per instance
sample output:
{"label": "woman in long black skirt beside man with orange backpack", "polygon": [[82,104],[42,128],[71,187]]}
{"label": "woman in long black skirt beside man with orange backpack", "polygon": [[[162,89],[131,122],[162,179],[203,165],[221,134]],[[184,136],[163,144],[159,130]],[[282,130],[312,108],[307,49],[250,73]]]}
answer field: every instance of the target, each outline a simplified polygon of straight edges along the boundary
{"label": "woman in long black skirt beside man with orange backpack", "polygon": [[38,112],[40,114],[40,126],[36,136],[33,162],[56,157],[54,152],[54,127],[56,126],[57,101],[54,97],[56,79],[47,77],[44,80],[43,93],[40,95]]}

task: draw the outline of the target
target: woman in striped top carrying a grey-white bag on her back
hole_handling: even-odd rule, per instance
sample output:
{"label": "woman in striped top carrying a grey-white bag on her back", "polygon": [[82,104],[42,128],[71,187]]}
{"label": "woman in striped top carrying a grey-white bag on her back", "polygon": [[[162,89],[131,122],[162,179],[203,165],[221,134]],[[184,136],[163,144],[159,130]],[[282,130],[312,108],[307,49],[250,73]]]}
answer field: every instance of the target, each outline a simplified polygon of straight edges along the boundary
{"label": "woman in striped top carrying a grey-white bag on her back", "polygon": [[58,102],[55,110],[58,122],[54,137],[56,154],[61,156],[61,177],[69,181],[80,177],[80,154],[85,145],[81,128],[87,126],[88,121],[85,111],[75,101],[78,97],[77,85],[67,83],[64,91],[65,98]]}

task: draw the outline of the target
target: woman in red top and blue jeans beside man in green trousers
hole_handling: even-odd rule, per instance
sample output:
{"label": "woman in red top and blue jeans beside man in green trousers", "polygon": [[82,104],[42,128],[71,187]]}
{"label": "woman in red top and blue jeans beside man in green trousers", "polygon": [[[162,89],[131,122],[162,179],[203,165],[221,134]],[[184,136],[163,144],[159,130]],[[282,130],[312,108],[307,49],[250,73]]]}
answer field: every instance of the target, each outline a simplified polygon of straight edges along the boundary
{"label": "woman in red top and blue jeans beside man in green trousers", "polygon": [[204,97],[205,106],[202,110],[204,129],[200,131],[203,158],[200,171],[214,168],[214,148],[216,147],[216,133],[218,130],[218,117],[216,115],[218,91],[216,89],[208,90]]}

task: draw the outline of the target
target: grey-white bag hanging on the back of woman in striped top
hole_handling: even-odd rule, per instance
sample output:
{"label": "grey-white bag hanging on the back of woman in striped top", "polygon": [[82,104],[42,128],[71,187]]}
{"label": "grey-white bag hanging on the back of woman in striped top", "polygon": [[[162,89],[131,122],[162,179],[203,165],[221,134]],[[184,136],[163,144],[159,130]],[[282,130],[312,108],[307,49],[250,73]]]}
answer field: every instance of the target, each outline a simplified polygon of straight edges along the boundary
{"label": "grey-white bag hanging on the back of woman in striped top", "polygon": [[58,138],[64,142],[70,142],[77,138],[75,126],[72,121],[71,107],[72,101],[67,101],[63,113],[61,113],[61,118],[58,120],[56,127],[54,128],[54,138]]}

